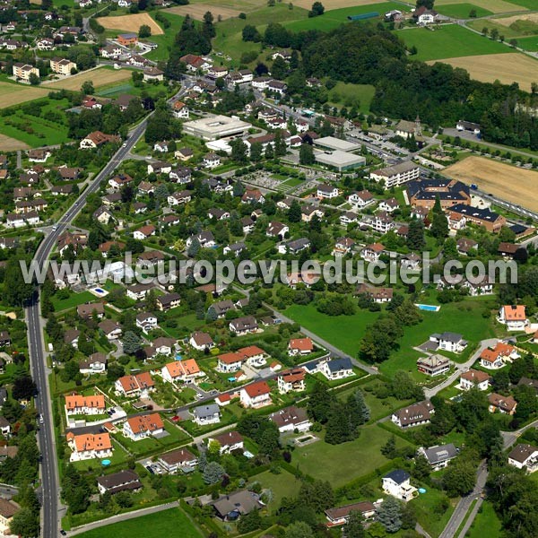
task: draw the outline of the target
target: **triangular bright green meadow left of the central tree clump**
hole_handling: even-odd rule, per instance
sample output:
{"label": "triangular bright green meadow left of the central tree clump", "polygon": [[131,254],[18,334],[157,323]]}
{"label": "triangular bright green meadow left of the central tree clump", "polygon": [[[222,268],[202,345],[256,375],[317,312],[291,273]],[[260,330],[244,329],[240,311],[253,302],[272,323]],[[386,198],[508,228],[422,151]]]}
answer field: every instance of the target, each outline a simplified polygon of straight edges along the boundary
{"label": "triangular bright green meadow left of the central tree clump", "polygon": [[312,304],[292,305],[284,314],[353,357],[357,356],[367,325],[371,325],[379,315],[360,310],[353,316],[326,316]]}

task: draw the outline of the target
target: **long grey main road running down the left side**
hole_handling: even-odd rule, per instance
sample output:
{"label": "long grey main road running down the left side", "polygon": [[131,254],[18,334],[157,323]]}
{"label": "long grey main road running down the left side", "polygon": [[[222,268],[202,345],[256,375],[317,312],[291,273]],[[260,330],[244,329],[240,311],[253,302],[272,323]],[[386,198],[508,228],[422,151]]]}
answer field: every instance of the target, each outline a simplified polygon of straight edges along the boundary
{"label": "long grey main road running down the left side", "polygon": [[[100,183],[117,168],[121,161],[126,159],[134,143],[143,134],[146,126],[144,119],[131,132],[126,143],[119,148],[113,158],[101,170],[91,185],[87,187],[76,202],[67,210],[61,221],[56,224],[56,230],[52,230],[39,246],[34,260],[43,265],[47,262],[48,256],[56,245],[58,236],[65,228],[74,221],[76,215],[81,211],[86,199],[100,188]],[[43,324],[39,314],[39,291],[36,291],[34,298],[26,308],[26,321],[28,325],[28,340],[30,349],[30,369],[31,375],[38,386],[36,397],[36,409],[44,417],[44,424],[38,433],[39,448],[41,450],[41,488],[43,492],[43,514],[41,522],[41,535],[46,538],[54,538],[58,535],[58,504],[59,504],[59,481],[56,465],[56,442],[54,438],[54,424],[52,422],[52,406],[48,391],[48,369],[45,360],[45,350],[43,342]]]}

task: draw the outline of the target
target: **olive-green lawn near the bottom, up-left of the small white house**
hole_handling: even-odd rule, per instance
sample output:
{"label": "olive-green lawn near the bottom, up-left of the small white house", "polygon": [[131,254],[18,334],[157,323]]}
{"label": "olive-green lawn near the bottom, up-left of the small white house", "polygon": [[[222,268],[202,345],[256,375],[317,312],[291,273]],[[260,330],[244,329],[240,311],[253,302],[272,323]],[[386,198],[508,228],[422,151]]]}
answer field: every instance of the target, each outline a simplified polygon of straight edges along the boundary
{"label": "olive-green lawn near the bottom, up-left of the small white house", "polygon": [[[316,433],[316,435],[319,435]],[[319,440],[293,451],[291,464],[318,480],[331,482],[339,488],[364,474],[371,473],[387,459],[380,452],[390,433],[376,425],[360,428],[360,436],[342,445],[328,445]],[[407,441],[396,438],[396,446],[404,447]],[[343,464],[345,462],[345,464]]]}

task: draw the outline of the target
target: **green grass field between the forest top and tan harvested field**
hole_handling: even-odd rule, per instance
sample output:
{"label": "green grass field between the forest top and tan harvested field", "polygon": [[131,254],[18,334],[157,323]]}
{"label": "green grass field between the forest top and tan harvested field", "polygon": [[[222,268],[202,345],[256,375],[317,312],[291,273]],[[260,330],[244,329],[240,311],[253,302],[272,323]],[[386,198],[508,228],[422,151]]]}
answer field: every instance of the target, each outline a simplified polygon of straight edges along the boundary
{"label": "green grass field between the forest top and tan harvested field", "polygon": [[408,48],[416,47],[412,59],[427,61],[459,56],[477,56],[510,52],[510,48],[465,30],[456,24],[441,26],[438,30],[416,28],[400,30],[396,34]]}

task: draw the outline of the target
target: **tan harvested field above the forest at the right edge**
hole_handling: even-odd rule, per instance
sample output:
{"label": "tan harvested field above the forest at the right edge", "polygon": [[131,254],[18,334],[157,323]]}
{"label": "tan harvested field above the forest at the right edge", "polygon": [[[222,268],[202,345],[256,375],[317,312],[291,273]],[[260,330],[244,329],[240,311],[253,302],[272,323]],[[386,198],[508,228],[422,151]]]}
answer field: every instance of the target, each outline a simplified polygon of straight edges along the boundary
{"label": "tan harvested field above the forest at the right edge", "polygon": [[481,82],[495,82],[497,80],[504,84],[518,82],[519,87],[525,91],[531,91],[531,83],[536,82],[536,74],[538,73],[538,61],[518,52],[445,58],[432,60],[428,64],[432,65],[435,62],[443,62],[453,67],[463,67],[473,79]]}

